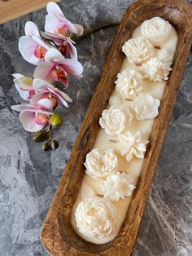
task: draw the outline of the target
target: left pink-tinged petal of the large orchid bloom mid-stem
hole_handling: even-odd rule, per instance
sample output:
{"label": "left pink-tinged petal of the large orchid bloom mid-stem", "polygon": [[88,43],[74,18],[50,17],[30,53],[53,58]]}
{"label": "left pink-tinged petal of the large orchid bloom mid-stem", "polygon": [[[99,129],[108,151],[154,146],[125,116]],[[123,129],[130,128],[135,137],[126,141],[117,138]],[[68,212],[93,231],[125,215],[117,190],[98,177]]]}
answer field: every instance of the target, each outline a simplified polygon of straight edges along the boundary
{"label": "left pink-tinged petal of the large orchid bloom mid-stem", "polygon": [[46,80],[47,82],[53,82],[51,71],[55,67],[55,64],[50,61],[43,62],[35,68],[33,77],[41,78]]}

